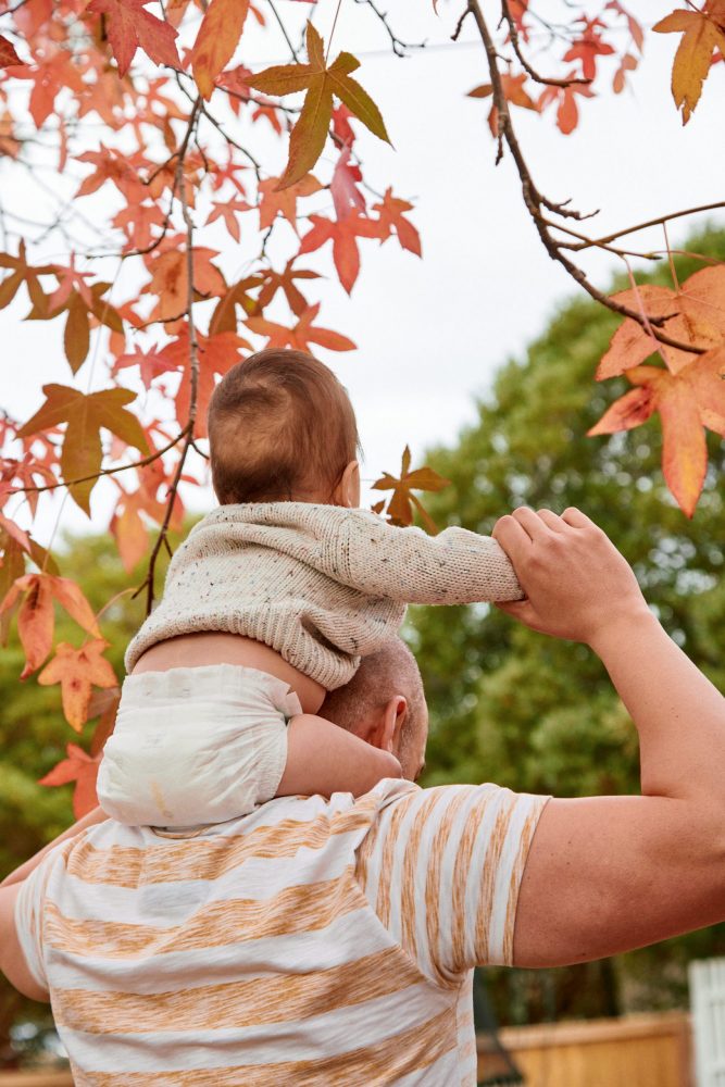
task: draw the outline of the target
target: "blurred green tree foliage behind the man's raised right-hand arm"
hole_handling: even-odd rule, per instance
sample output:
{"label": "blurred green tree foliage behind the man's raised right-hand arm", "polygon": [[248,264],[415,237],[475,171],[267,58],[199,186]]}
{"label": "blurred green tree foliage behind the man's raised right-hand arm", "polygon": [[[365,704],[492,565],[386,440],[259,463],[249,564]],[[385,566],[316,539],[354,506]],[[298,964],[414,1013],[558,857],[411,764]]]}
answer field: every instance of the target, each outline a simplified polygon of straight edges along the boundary
{"label": "blurred green tree foliage behind the man's raised right-hand arm", "polygon": [[[692,239],[690,248],[723,259],[725,234]],[[695,271],[687,259],[676,265],[680,282]],[[653,282],[672,283],[664,268]],[[430,513],[439,525],[490,533],[517,505],[584,510],[633,564],[672,637],[725,690],[725,446],[712,436],[709,475],[690,522],[658,467],[657,422],[586,437],[625,391],[615,380],[592,396],[592,374],[616,325],[591,302],[568,303],[523,361],[502,367],[476,422],[427,457],[452,480],[430,499]],[[414,610],[410,640],[432,710],[426,784],[493,780],[560,797],[638,791],[634,726],[586,647],[543,638],[487,605]],[[577,967],[553,979],[499,975],[499,1012],[523,1020],[546,1017],[547,1007],[593,1015],[683,1001],[687,959],[723,952],[720,926],[624,957],[614,969]]]}

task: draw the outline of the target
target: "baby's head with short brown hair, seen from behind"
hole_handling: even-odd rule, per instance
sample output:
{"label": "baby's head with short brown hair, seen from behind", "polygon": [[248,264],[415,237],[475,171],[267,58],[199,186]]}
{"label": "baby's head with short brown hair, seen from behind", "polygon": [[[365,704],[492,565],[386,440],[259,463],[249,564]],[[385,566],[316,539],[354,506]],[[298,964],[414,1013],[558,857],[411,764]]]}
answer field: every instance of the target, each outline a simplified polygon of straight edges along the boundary
{"label": "baby's head with short brown hair, seen from behind", "polygon": [[209,403],[212,484],[233,502],[360,505],[358,425],[332,370],[268,348],[237,363]]}

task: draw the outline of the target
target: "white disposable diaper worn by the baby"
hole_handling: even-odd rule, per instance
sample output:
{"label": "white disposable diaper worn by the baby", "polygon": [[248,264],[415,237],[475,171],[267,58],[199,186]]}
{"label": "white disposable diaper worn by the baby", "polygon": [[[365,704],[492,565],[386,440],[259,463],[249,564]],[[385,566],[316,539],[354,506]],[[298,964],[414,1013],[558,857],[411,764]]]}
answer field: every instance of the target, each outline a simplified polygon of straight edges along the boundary
{"label": "white disposable diaper worn by the baby", "polygon": [[98,773],[98,801],[121,823],[224,823],[271,800],[302,708],[282,679],[237,664],[127,676]]}

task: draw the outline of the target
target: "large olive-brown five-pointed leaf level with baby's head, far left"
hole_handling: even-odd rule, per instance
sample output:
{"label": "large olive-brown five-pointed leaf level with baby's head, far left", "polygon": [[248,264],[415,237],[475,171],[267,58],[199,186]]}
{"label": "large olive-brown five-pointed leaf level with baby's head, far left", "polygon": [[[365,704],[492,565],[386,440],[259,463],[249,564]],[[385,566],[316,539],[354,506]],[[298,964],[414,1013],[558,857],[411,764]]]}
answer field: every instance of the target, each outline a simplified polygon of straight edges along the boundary
{"label": "large olive-brown five-pointed leaf level with baby's head, far left", "polygon": [[[136,399],[129,389],[78,392],[67,385],[43,385],[46,402],[17,432],[18,437],[67,423],[61,452],[61,472],[80,509],[90,515],[90,492],[101,468],[101,428],[111,430],[142,453],[148,442],[138,418],[125,405]],[[90,478],[87,478],[90,477]],[[83,479],[83,483],[73,480]]]}

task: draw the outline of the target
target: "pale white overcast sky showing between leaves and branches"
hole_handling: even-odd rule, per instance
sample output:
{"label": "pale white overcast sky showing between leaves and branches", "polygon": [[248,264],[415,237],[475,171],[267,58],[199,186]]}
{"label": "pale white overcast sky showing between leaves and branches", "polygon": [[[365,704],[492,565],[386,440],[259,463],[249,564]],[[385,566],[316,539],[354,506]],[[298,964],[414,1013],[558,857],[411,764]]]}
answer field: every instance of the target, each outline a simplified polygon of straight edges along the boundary
{"label": "pale white overcast sky showing between leaves and branches", "polygon": [[[321,0],[317,5],[315,22],[325,37],[335,5],[335,0]],[[300,20],[309,11],[305,4],[284,7]],[[549,0],[541,10],[559,7],[557,0]],[[629,3],[648,24],[672,7],[672,0]],[[366,454],[364,475],[370,479],[383,468],[397,471],[405,442],[415,461],[426,447],[454,440],[460,427],[473,417],[473,397],[489,387],[496,367],[521,353],[560,301],[576,292],[535,234],[512,163],[504,159],[493,166],[487,103],[465,98],[487,78],[483,53],[474,45],[473,24],[459,47],[449,47],[462,3],[448,0],[439,8],[441,16],[436,17],[429,0],[420,0],[415,7],[410,0],[389,4],[390,20],[401,37],[430,43],[427,51],[408,60],[388,52],[380,24],[352,0],[342,0],[335,35],[335,48],[349,48],[360,57],[357,76],[380,105],[395,143],[391,150],[373,137],[361,137],[365,176],[375,187],[392,185],[396,195],[414,200],[413,220],[424,249],[418,261],[400,250],[396,239],[383,247],[363,240],[362,273],[350,299],[330,271],[326,250],[311,254],[304,264],[329,275],[318,282],[313,296],[323,303],[320,323],[343,332],[358,345],[355,352],[321,350],[320,357],[351,392]],[[496,5],[486,3],[485,8]],[[273,48],[275,40],[272,33],[257,35],[254,59],[285,60],[284,45],[279,41]],[[613,96],[603,88],[601,97],[585,101],[582,123],[572,136],[558,133],[553,116],[514,111],[539,187],[552,199],[572,197],[582,211],[601,209],[592,227],[598,233],[723,198],[725,68],[718,65],[712,71],[700,105],[683,129],[668,89],[677,40],[674,35],[648,36],[645,59],[630,89]],[[242,55],[249,63],[250,52]],[[614,64],[609,70],[613,73]],[[283,153],[280,148],[278,154]],[[13,174],[13,170],[8,160],[0,162],[2,202],[33,217],[39,197],[29,191],[27,175]],[[117,208],[112,190],[99,197],[91,217],[102,215],[104,207]],[[673,246],[697,218],[686,222],[672,226]],[[277,232],[280,245],[286,229],[282,225]],[[249,232],[253,234],[251,226]],[[632,241],[642,248],[661,248],[663,236],[658,229]],[[202,238],[200,243],[213,241]],[[53,259],[61,255],[57,241]],[[239,252],[224,252],[221,263],[230,274],[239,266]],[[585,266],[605,286],[614,265],[605,254],[595,254]],[[127,297],[127,291],[121,290],[117,297]],[[27,308],[23,297],[22,302],[0,311],[2,404],[20,418],[40,405],[43,383],[72,380],[62,354],[60,322],[23,324]],[[95,366],[91,380],[92,388],[104,387],[104,366]],[[79,373],[78,387],[88,387],[88,364]],[[525,388],[522,396],[526,396]],[[91,502],[93,527],[108,523],[110,491],[103,496],[100,490]],[[203,510],[212,503],[209,490],[197,493],[192,505]],[[35,535],[43,542],[57,522],[58,505],[58,501],[48,503],[36,524]],[[23,518],[22,513],[18,517]],[[76,530],[89,525],[70,500],[61,523]]]}

